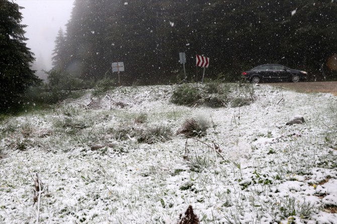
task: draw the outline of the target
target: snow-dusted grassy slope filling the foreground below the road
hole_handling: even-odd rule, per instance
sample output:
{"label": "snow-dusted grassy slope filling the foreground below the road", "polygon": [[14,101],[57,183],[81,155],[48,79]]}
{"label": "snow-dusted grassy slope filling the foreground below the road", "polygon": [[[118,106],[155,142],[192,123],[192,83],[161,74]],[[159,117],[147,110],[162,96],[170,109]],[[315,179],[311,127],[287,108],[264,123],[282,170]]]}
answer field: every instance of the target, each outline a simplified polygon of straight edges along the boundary
{"label": "snow-dusted grassy slope filling the foreground below the road", "polygon": [[[337,223],[336,97],[233,84],[229,98],[255,101],[214,109],[170,103],[176,88],[88,91],[2,121],[0,223],[35,222],[36,173],[40,223],[176,223],[189,204],[205,224]],[[176,135],[192,118],[207,134]]]}

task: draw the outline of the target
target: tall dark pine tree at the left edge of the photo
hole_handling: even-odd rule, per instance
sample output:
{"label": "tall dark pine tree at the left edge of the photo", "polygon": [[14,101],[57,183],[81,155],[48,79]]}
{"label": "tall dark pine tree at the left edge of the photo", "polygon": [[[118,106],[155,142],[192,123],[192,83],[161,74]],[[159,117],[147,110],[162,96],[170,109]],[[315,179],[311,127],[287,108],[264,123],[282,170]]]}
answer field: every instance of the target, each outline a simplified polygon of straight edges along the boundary
{"label": "tall dark pine tree at the left edge of the photo", "polygon": [[20,103],[21,94],[40,80],[30,63],[33,53],[27,48],[20,7],[8,0],[0,0],[0,111],[8,111]]}

